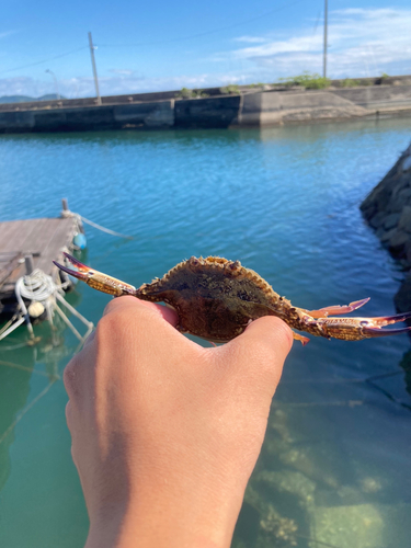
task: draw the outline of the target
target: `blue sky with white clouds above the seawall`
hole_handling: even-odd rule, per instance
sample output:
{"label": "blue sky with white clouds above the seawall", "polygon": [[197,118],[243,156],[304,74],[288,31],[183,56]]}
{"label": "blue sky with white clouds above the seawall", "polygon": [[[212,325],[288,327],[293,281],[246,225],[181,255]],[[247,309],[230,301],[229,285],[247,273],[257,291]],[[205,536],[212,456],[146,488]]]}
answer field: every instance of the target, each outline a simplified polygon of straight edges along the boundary
{"label": "blue sky with white clouds above the seawall", "polygon": [[[273,82],[322,70],[323,0],[2,0],[0,95],[101,93]],[[68,55],[65,55],[68,54]],[[329,0],[329,76],[411,73],[411,4]]]}

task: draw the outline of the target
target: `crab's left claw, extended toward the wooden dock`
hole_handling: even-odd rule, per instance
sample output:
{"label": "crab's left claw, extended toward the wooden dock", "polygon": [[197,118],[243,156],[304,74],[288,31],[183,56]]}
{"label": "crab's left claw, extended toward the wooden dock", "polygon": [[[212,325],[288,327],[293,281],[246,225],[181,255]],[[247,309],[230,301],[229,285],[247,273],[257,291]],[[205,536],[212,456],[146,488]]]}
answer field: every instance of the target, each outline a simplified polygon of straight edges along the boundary
{"label": "crab's left claw, extended toward the wooden dock", "polygon": [[68,269],[67,266],[59,264],[57,261],[53,261],[54,264],[70,276],[75,276],[78,279],[81,279],[85,284],[90,285],[90,287],[93,287],[93,289],[109,293],[110,295],[114,295],[115,297],[119,297],[121,295],[135,295],[136,288],[133,285],[126,284],[121,279],[116,279],[115,277],[107,276],[102,272],[90,269],[90,266],[80,263],[80,261],[69,255],[68,253],[64,253],[64,255],[77,270]]}

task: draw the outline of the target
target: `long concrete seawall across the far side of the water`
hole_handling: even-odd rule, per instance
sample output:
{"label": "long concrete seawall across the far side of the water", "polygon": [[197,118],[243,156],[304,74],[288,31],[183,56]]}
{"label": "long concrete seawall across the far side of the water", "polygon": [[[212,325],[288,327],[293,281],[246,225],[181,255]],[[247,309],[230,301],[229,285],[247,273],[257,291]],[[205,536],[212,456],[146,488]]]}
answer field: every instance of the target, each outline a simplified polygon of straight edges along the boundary
{"label": "long concrete seawall across the far side of the water", "polygon": [[176,92],[103,98],[99,106],[91,99],[2,104],[0,133],[261,127],[411,114],[410,84],[232,95],[218,95],[217,88],[206,91],[213,92],[206,99],[172,99]]}

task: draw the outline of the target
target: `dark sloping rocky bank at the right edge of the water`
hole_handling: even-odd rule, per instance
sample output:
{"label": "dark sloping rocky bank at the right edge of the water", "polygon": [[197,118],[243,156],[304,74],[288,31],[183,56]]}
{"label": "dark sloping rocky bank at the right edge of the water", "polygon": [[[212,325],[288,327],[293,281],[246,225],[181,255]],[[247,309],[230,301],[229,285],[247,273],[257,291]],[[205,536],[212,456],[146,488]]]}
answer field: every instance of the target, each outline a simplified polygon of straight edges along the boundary
{"label": "dark sloping rocky bank at the right edge of the water", "polygon": [[399,312],[411,310],[411,145],[361,205],[383,246],[402,264],[406,278],[395,296]]}

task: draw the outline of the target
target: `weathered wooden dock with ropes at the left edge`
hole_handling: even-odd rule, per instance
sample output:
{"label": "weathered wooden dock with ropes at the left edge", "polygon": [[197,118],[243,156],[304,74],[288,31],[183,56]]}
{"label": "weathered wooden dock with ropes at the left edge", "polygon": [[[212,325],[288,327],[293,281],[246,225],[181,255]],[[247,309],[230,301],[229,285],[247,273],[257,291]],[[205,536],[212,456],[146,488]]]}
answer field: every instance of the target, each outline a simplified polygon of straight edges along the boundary
{"label": "weathered wooden dock with ropes at the left edge", "polygon": [[26,274],[25,256],[33,267],[57,278],[53,260],[62,260],[64,249],[72,249],[77,230],[75,217],[10,220],[0,222],[0,315],[14,300],[15,282]]}

